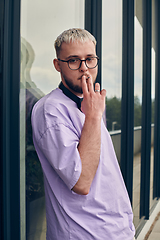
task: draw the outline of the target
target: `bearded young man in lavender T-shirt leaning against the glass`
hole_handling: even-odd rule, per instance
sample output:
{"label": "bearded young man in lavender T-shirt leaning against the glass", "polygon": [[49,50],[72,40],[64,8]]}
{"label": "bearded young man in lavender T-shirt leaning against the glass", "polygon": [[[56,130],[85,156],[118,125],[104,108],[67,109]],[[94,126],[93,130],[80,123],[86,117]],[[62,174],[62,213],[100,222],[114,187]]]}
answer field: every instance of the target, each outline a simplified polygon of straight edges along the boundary
{"label": "bearded young man in lavender T-shirt leaning against the glass", "polygon": [[98,83],[93,87],[95,47],[95,38],[83,29],[69,29],[56,39],[54,66],[61,83],[32,112],[33,140],[44,173],[47,240],[132,240],[135,234],[128,194],[102,120],[106,91]]}

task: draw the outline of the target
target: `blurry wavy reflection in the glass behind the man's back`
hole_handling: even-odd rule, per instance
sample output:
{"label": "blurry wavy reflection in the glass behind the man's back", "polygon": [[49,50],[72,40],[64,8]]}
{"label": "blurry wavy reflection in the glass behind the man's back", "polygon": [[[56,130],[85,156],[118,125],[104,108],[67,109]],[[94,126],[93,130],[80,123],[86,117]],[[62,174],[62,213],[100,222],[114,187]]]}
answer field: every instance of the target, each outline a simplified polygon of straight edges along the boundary
{"label": "blurry wavy reflection in the glass behind the man's back", "polygon": [[[31,45],[21,38],[21,91],[23,89],[23,111],[25,112],[23,123],[25,128],[24,146],[21,147],[21,161],[25,160],[25,181],[26,181],[26,232],[30,233],[35,231],[35,224],[37,224],[39,230],[41,225],[45,223],[44,215],[44,188],[43,188],[43,174],[41,166],[34,150],[32,141],[32,129],[31,129],[31,111],[33,105],[37,100],[44,96],[34,82],[31,80],[30,70],[35,58],[34,50]],[[22,116],[22,112],[21,112]],[[22,129],[20,132],[22,136]],[[24,171],[21,168],[21,172]],[[23,178],[23,175],[22,175]],[[36,204],[35,204],[36,203]],[[40,204],[41,203],[41,204]],[[35,205],[35,206],[34,206]],[[41,216],[42,220],[36,219]],[[31,224],[33,221],[33,224]],[[33,231],[33,229],[34,231]]]}

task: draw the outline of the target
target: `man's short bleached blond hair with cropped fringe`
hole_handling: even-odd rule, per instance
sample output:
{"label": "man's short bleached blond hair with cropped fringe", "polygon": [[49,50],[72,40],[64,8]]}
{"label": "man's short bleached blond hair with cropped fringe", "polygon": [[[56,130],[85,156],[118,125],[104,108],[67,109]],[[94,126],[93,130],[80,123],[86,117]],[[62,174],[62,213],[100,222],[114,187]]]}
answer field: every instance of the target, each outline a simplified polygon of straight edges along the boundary
{"label": "man's short bleached blond hair with cropped fringe", "polygon": [[59,55],[59,52],[61,50],[61,45],[63,42],[65,43],[70,43],[74,41],[85,42],[87,40],[91,40],[96,46],[97,42],[95,37],[91,33],[89,33],[87,30],[81,29],[81,28],[71,28],[71,29],[65,30],[57,37],[57,39],[54,42],[56,54],[57,56]]}

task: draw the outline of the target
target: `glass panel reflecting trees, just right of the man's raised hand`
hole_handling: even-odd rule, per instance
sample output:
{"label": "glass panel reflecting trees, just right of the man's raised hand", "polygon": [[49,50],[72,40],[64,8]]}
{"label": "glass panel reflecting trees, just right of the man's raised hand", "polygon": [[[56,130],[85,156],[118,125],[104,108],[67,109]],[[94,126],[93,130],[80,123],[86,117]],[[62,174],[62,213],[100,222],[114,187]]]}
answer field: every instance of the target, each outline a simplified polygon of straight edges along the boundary
{"label": "glass panel reflecting trees, just right of the man's raised hand", "polygon": [[102,87],[107,91],[106,123],[120,161],[122,83],[122,1],[102,1]]}

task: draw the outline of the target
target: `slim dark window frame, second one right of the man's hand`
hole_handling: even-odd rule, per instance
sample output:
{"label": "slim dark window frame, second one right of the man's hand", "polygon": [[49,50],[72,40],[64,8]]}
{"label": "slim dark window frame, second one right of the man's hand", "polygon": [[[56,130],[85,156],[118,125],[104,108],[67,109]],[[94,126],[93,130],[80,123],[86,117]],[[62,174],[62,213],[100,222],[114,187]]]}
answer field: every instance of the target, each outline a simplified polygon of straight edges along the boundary
{"label": "slim dark window frame, second one right of the man's hand", "polygon": [[152,51],[152,3],[142,2],[143,8],[143,93],[141,138],[141,191],[140,218],[149,219],[150,162],[151,162],[151,51]]}

